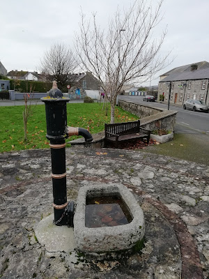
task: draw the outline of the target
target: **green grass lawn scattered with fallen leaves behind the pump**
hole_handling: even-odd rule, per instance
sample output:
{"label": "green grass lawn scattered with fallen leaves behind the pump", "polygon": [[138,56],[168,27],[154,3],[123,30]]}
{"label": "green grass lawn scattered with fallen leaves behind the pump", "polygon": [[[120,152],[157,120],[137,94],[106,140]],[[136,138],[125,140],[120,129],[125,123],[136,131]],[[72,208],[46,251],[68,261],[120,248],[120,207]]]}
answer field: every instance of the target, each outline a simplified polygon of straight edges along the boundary
{"label": "green grass lawn scattered with fallen leaves behind the pump", "polygon": [[[68,126],[85,129],[89,126],[91,134],[104,130],[104,123],[110,122],[110,106],[107,106],[107,116],[102,107],[102,103],[67,104]],[[28,121],[27,142],[24,142],[23,111],[24,106],[0,107],[0,152],[49,148],[46,138],[45,105],[33,105],[33,115]],[[137,119],[137,116],[116,107],[115,122]],[[70,137],[70,140],[75,138],[77,137]]]}

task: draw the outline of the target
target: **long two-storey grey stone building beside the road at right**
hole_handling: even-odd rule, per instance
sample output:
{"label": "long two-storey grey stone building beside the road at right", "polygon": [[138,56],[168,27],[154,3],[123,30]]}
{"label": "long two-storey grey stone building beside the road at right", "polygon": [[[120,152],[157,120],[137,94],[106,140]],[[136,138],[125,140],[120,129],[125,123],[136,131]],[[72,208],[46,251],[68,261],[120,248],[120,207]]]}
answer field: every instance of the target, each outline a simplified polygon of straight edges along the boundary
{"label": "long two-storey grey stone building beside the road at right", "polygon": [[[160,76],[158,100],[164,96],[164,103],[183,105],[187,99],[201,100],[209,104],[209,63],[201,61],[178,68]],[[160,96],[161,95],[161,96]]]}

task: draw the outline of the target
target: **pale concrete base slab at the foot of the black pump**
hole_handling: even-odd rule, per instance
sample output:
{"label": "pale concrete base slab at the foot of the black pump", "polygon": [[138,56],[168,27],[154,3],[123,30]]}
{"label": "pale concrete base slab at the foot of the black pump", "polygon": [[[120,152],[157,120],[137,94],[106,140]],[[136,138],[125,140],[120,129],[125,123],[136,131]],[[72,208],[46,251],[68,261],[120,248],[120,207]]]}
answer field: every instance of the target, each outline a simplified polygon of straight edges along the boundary
{"label": "pale concrete base slab at the foot of the black pump", "polygon": [[53,224],[54,215],[43,218],[34,228],[41,246],[48,252],[72,252],[75,248],[72,227]]}

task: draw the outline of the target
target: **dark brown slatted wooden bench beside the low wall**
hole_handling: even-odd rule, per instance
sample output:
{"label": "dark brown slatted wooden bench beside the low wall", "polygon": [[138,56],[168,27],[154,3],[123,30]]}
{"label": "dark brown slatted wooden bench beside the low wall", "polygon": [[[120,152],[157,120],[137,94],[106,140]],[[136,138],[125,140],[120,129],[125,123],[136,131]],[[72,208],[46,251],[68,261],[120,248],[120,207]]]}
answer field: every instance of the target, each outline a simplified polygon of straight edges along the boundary
{"label": "dark brown slatted wooden bench beside the low wall", "polygon": [[150,141],[150,130],[140,127],[140,120],[132,122],[104,124],[105,144],[111,142],[118,148],[121,142],[129,142],[130,140],[146,139],[147,144]]}

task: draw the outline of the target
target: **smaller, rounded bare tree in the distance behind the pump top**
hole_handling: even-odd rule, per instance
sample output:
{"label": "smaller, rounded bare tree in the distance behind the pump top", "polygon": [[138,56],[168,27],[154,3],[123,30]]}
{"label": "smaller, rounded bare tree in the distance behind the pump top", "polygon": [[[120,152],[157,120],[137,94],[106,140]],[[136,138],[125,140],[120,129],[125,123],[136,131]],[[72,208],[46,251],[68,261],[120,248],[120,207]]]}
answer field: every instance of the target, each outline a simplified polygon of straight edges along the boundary
{"label": "smaller, rounded bare tree in the distance behind the pump top", "polygon": [[56,80],[61,87],[72,83],[76,67],[77,62],[72,50],[59,43],[52,45],[50,50],[45,52],[40,66],[45,80]]}

